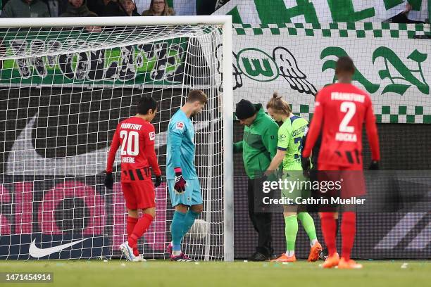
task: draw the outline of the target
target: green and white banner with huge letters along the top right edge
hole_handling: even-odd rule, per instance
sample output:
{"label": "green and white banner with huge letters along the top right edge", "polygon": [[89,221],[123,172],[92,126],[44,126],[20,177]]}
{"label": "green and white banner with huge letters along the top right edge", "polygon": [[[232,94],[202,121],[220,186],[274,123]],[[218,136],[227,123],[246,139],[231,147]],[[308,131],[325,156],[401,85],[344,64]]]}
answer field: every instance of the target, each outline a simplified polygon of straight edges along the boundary
{"label": "green and white banner with huge letters along the top right edge", "polygon": [[230,0],[213,15],[232,15],[234,23],[247,24],[335,23],[382,22],[408,11],[409,19],[425,21],[428,1]]}

